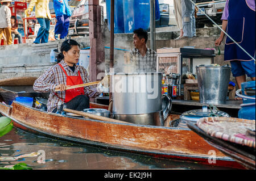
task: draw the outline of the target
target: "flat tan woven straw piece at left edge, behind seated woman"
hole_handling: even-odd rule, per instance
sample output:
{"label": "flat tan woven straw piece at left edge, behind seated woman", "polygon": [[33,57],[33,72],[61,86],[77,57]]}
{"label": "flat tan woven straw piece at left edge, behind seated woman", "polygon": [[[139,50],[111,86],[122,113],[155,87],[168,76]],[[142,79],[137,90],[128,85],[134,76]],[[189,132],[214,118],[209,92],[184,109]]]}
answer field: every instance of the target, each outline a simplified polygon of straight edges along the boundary
{"label": "flat tan woven straw piece at left edge, behind seated woman", "polygon": [[0,86],[32,86],[38,77],[13,77],[0,79]]}

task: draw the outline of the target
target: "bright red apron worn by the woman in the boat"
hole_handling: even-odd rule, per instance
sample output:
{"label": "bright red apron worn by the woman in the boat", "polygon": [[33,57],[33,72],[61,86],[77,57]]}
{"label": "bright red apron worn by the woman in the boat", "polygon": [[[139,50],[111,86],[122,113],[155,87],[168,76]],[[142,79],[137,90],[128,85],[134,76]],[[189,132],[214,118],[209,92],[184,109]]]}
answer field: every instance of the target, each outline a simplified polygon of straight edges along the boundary
{"label": "bright red apron worn by the woman in the boat", "polygon": [[[60,65],[60,64],[59,64]],[[68,76],[67,72],[64,70],[63,66],[60,65],[60,68],[64,71],[64,73],[67,76],[66,79],[66,83],[67,86],[75,86],[75,85],[79,85],[82,84],[84,82],[82,82],[82,78],[80,75],[80,71],[79,71],[79,76]],[[65,90],[65,100],[61,99],[64,103],[69,102],[70,100],[72,100],[73,98],[75,98],[77,95],[84,95],[84,87],[79,87],[76,89],[69,89],[69,90]],[[55,94],[56,95],[56,94]]]}

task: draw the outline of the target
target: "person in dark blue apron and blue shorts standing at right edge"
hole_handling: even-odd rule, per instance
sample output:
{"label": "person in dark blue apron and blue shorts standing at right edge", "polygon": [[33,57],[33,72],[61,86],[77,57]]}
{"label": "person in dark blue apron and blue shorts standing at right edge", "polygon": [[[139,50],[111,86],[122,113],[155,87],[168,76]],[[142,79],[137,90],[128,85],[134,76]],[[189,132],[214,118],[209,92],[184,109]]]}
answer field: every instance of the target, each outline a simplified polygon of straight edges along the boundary
{"label": "person in dark blue apron and blue shorts standing at right edge", "polygon": [[[222,14],[222,30],[255,58],[255,0],[227,0]],[[215,41],[219,46],[225,34]],[[229,37],[225,39],[224,61],[230,61],[231,71],[241,89],[246,74],[255,81],[255,61]]]}

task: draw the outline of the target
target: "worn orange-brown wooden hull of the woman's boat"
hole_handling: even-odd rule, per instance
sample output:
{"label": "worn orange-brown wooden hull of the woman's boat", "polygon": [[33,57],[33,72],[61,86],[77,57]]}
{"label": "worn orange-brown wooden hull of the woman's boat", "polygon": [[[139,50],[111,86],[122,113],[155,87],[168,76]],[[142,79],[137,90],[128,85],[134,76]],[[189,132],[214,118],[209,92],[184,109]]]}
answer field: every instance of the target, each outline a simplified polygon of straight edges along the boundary
{"label": "worn orange-brown wooden hull of the woman's boat", "polygon": [[[15,101],[11,106],[0,103],[0,112],[10,117],[17,128],[61,140],[152,157],[243,169],[240,164],[210,146],[190,129],[62,116],[27,107]],[[216,163],[209,162],[213,155],[208,153],[212,153],[212,150]]]}

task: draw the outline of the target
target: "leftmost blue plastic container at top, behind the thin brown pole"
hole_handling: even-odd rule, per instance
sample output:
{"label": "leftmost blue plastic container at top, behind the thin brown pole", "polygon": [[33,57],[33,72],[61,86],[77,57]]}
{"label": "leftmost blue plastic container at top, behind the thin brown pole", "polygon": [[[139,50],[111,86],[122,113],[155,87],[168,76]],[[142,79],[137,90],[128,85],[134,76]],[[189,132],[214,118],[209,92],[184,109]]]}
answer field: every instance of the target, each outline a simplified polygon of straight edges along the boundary
{"label": "leftmost blue plastic container at top, behind the thin brown pole", "polygon": [[[106,0],[106,14],[108,19],[108,28],[110,31],[111,0]],[[125,28],[123,23],[123,0],[115,0],[114,33],[124,33],[124,32],[125,32]]]}

